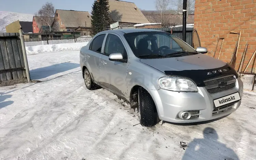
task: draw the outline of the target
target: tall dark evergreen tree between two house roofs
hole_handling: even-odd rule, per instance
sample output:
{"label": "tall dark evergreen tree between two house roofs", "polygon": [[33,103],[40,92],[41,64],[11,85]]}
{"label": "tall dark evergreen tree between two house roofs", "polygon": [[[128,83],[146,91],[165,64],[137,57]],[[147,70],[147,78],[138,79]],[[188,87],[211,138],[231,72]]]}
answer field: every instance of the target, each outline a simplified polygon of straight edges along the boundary
{"label": "tall dark evergreen tree between two house roofs", "polygon": [[93,35],[110,28],[109,0],[94,1],[91,12],[91,28]]}

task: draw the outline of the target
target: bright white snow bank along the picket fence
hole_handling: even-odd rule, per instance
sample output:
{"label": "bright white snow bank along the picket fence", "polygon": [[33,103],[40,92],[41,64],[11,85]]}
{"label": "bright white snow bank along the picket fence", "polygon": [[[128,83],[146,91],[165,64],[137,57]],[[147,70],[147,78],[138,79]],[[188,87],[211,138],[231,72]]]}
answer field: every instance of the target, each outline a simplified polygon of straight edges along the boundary
{"label": "bright white snow bank along the picket fence", "polygon": [[56,52],[63,50],[80,50],[83,46],[86,46],[87,44],[88,42],[29,46],[26,47],[26,51],[27,54],[34,54],[43,52]]}

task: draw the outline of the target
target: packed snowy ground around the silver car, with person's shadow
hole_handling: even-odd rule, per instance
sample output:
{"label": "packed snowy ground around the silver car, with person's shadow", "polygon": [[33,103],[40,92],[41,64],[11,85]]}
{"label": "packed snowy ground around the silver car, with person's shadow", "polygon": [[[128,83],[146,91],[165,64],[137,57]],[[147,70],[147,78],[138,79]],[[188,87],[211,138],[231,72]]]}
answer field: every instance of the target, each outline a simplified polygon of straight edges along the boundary
{"label": "packed snowy ground around the silver car, with person's shadow", "polygon": [[217,121],[147,128],[117,96],[86,89],[79,51],[28,61],[31,78],[42,82],[0,88],[0,159],[256,159],[255,92],[245,91],[241,107]]}

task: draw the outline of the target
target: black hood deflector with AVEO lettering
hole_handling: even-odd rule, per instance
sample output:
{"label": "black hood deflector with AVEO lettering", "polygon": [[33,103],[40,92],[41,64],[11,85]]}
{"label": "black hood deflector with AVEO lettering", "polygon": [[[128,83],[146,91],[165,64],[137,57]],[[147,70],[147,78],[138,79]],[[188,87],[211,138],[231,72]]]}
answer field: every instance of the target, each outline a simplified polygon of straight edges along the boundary
{"label": "black hood deflector with AVEO lettering", "polygon": [[214,69],[204,69],[204,70],[182,70],[182,71],[165,71],[165,74],[168,76],[177,76],[177,77],[183,77],[190,79],[193,81],[196,86],[203,87],[205,80],[209,80],[212,78],[217,78],[221,76],[227,76],[227,75],[236,75],[238,78],[238,74],[236,70],[230,65],[226,64],[223,67],[220,68],[214,68]]}

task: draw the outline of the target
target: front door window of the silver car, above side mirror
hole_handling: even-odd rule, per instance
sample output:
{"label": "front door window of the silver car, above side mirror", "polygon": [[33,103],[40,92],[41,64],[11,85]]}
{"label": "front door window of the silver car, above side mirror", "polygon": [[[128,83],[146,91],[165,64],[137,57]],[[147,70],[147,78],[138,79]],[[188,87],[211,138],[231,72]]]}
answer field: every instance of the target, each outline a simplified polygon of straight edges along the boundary
{"label": "front door window of the silver car, above side mirror", "polygon": [[126,50],[120,38],[116,35],[109,34],[106,39],[104,54],[110,55],[112,53],[122,53],[124,57],[126,56]]}

